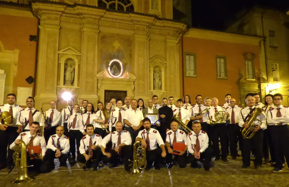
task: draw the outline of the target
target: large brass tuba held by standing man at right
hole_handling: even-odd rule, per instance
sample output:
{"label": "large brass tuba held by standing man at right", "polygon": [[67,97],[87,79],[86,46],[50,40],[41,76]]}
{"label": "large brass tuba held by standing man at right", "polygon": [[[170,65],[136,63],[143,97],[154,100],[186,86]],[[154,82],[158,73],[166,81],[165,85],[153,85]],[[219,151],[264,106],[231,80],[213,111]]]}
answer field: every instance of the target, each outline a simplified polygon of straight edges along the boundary
{"label": "large brass tuba held by standing man at right", "polygon": [[[252,138],[254,136],[254,134],[256,133],[256,132],[254,132],[254,128],[259,127],[262,124],[261,120],[259,120],[257,118],[257,116],[259,116],[259,114],[262,113],[262,112],[264,112],[264,110],[262,108],[256,107],[256,110],[253,112],[252,116],[250,114],[248,114],[248,115],[251,116],[251,119],[248,122],[249,128],[243,128],[243,130],[242,130],[243,138],[250,139],[250,138]],[[256,125],[254,123],[254,121],[259,121],[260,125]]]}

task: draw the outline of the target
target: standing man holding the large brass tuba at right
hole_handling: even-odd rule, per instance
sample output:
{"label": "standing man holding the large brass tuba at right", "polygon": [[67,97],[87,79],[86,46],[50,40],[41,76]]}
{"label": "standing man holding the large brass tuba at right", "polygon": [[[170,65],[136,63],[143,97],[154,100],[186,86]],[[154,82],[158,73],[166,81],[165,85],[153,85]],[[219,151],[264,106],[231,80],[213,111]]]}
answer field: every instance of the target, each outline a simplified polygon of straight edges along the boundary
{"label": "standing man holding the large brass tuba at right", "polygon": [[[245,97],[245,102],[247,104],[246,108],[241,109],[239,120],[239,126],[249,128],[248,122],[251,119],[251,116],[256,110],[255,107],[255,98],[253,94],[247,94]],[[262,112],[257,116],[257,119],[254,123],[256,127],[254,128],[254,136],[250,139],[243,138],[243,148],[242,148],[242,168],[247,168],[250,166],[250,152],[252,148],[255,152],[254,165],[255,169],[260,169],[262,165],[262,156],[263,156],[263,131],[261,129],[266,128],[266,116]],[[259,126],[261,125],[261,126]],[[261,130],[261,131],[260,131]]]}

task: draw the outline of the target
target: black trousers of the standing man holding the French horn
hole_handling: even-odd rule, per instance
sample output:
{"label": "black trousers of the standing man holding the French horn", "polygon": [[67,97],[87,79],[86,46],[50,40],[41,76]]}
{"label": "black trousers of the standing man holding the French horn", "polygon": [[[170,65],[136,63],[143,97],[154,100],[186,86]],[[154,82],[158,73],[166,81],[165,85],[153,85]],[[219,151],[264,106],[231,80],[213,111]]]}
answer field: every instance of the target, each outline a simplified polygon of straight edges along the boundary
{"label": "black trousers of the standing man holding the French horn", "polygon": [[216,124],[211,127],[212,130],[212,148],[213,148],[213,155],[219,156],[220,149],[219,149],[219,137],[221,141],[221,157],[227,157],[227,125],[226,123]]}

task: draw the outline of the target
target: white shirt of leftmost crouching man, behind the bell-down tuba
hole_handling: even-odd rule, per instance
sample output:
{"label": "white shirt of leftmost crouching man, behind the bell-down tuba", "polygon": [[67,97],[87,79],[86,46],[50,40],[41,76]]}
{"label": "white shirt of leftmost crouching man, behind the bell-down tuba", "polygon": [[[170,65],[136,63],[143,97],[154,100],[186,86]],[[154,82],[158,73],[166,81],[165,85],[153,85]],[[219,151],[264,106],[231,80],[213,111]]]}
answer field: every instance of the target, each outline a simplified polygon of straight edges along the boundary
{"label": "white shirt of leftmost crouching man, behind the bell-down tuba", "polygon": [[[37,136],[36,136],[37,134]],[[36,136],[36,137],[35,137]],[[30,132],[22,132],[19,134],[19,136],[15,139],[15,140],[23,140],[25,142],[25,144],[27,145],[31,139],[31,137],[35,137],[33,140],[33,146],[41,146],[41,156],[45,156],[45,152],[46,152],[46,142],[44,139],[44,136],[42,134],[39,133],[35,133],[34,135],[31,135]],[[13,141],[13,143],[9,146],[9,148],[11,150],[15,150],[15,148],[18,146],[14,143],[15,141]],[[28,148],[27,148],[28,150]]]}

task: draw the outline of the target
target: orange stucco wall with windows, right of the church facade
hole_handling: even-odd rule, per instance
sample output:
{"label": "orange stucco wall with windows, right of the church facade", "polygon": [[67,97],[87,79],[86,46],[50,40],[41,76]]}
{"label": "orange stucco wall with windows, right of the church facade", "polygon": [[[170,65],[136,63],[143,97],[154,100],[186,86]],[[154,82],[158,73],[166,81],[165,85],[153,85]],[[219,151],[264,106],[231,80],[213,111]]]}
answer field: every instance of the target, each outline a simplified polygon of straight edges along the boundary
{"label": "orange stucco wall with windows, right of the church facade", "polygon": [[[243,74],[245,72],[245,60],[242,54],[253,52],[256,55],[254,60],[256,73],[260,67],[259,46],[185,36],[183,39],[183,52],[195,53],[197,63],[197,78],[182,77],[184,79],[184,94],[191,96],[192,103],[195,103],[195,96],[201,94],[203,101],[206,97],[217,97],[219,104],[224,104],[225,95],[231,93],[238,103],[239,95],[236,81],[239,78],[239,69],[242,70]],[[180,54],[182,53],[180,52]],[[227,80],[216,78],[216,55],[226,56]],[[180,65],[180,68],[182,66],[183,64]]]}

